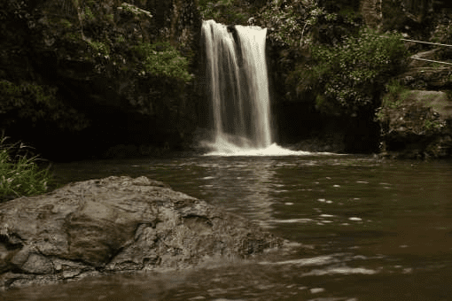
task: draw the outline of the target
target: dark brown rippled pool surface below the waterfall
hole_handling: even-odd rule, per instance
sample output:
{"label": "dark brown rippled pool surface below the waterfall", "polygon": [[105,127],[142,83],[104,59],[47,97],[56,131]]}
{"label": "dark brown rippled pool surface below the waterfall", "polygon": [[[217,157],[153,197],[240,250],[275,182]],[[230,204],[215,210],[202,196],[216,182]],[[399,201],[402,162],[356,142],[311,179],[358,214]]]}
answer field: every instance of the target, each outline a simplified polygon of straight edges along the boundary
{"label": "dark brown rippled pool surface below the waterfall", "polygon": [[452,161],[205,156],[55,173],[62,183],[146,175],[299,244],[191,272],[11,290],[5,300],[452,300]]}

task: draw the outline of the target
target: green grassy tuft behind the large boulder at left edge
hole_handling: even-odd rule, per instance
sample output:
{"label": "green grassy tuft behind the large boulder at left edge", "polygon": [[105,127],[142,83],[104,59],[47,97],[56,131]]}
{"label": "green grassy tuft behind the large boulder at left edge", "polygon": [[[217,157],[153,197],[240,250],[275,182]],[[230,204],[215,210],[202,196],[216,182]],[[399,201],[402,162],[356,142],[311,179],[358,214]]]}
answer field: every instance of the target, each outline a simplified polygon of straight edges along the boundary
{"label": "green grassy tuft behind the large boulder at left edge", "polygon": [[[23,144],[6,144],[0,138],[0,200],[42,194],[47,191],[51,174],[37,165],[37,157],[28,157]],[[16,152],[15,156],[12,153]]]}

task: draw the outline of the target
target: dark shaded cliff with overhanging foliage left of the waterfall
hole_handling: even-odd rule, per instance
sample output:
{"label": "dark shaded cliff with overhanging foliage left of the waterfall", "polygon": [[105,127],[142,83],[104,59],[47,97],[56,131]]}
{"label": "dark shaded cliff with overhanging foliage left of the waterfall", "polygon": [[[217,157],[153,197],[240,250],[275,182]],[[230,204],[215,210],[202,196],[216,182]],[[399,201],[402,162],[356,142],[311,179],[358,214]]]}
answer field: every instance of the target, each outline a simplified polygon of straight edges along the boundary
{"label": "dark shaded cliff with overhanging foliage left of the waterfall", "polygon": [[0,19],[6,135],[54,158],[177,148],[196,127],[196,1],[12,0]]}

